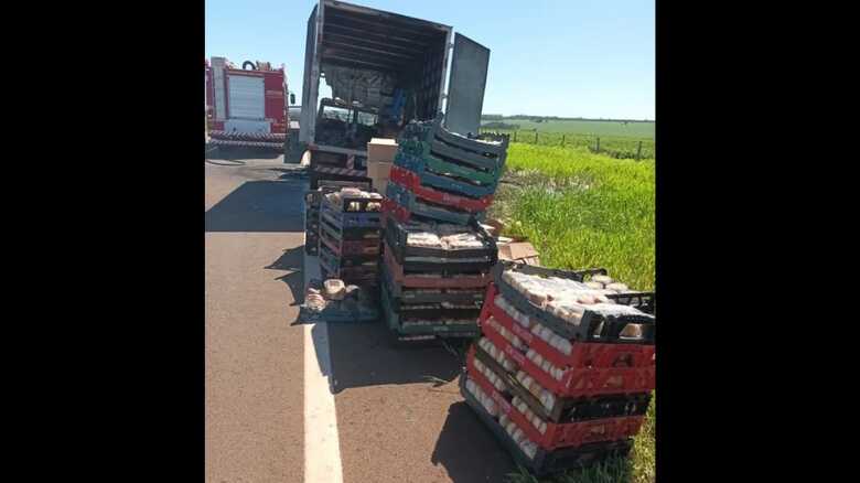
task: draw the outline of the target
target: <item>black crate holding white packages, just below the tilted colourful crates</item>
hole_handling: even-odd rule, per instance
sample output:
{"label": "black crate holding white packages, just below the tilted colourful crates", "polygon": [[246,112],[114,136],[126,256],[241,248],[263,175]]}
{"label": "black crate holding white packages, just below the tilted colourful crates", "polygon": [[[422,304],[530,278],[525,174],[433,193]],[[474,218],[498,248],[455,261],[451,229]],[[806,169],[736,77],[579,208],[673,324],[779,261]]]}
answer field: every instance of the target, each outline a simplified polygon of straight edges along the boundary
{"label": "black crate holding white packages, just below the tilted colourful crates", "polygon": [[393,217],[387,217],[385,221],[385,240],[388,243],[388,247],[391,249],[395,259],[397,259],[400,265],[405,262],[407,257],[433,257],[452,259],[452,261],[456,261],[459,258],[485,257],[491,265],[495,264],[498,258],[496,240],[477,223],[477,221],[471,221],[469,227],[472,228],[472,232],[483,243],[482,248],[444,249],[409,246],[407,243],[409,226],[406,226]]}

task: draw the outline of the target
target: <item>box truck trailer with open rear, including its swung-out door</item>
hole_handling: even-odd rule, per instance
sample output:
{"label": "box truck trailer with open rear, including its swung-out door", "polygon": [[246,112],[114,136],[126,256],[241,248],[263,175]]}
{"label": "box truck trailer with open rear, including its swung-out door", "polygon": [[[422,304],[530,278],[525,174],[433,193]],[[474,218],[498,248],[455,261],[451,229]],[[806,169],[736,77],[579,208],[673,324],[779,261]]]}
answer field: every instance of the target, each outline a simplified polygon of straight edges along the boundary
{"label": "box truck trailer with open rear, including its swung-out door", "polygon": [[[396,138],[413,119],[444,112],[448,130],[477,135],[488,63],[488,49],[450,25],[320,0],[308,19],[299,132],[311,189],[369,185],[367,142]],[[321,79],[331,98],[319,99]]]}

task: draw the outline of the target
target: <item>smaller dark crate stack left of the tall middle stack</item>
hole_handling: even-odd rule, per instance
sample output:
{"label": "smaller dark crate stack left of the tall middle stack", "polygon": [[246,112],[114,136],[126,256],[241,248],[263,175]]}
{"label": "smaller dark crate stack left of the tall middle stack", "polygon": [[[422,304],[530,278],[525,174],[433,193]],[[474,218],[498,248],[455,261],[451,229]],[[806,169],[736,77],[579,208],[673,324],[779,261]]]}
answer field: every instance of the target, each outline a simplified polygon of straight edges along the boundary
{"label": "smaller dark crate stack left of the tall middle stack", "polygon": [[381,195],[344,187],[322,195],[320,268],[325,279],[378,286]]}

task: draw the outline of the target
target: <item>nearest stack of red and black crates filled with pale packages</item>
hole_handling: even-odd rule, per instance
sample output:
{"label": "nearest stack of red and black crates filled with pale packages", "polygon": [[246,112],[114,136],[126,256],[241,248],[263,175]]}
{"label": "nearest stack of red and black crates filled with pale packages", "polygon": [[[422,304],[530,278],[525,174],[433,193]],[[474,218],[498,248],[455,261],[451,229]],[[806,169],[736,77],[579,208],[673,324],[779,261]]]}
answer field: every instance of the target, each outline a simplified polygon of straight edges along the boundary
{"label": "nearest stack of red and black crates filled with pale packages", "polygon": [[537,474],[625,455],[644,421],[655,385],[654,293],[603,282],[602,269],[503,261],[487,287],[461,391]]}

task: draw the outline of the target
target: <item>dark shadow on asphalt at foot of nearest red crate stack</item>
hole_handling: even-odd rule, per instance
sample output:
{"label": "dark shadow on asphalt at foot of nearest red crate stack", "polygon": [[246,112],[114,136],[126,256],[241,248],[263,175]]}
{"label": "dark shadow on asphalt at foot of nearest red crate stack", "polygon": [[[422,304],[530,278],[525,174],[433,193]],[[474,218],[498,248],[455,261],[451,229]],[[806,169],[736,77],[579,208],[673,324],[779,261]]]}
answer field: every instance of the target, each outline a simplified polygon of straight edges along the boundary
{"label": "dark shadow on asphalt at foot of nearest red crate stack", "polygon": [[517,471],[502,444],[463,401],[448,408],[430,461],[444,466],[455,483],[501,482]]}

